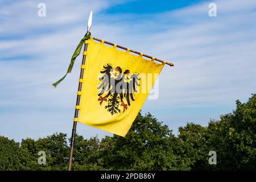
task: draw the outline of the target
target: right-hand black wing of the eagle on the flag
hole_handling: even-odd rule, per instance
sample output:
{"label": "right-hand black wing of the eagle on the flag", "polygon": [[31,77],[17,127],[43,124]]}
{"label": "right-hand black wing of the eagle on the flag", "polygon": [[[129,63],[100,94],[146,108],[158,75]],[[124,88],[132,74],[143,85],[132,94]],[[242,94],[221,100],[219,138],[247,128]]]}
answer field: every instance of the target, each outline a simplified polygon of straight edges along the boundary
{"label": "right-hand black wing of the eagle on the flag", "polygon": [[139,80],[138,73],[134,73],[130,77],[130,82],[127,82],[127,86],[123,88],[124,97],[129,106],[131,105],[131,101],[134,101],[134,93],[138,92]]}

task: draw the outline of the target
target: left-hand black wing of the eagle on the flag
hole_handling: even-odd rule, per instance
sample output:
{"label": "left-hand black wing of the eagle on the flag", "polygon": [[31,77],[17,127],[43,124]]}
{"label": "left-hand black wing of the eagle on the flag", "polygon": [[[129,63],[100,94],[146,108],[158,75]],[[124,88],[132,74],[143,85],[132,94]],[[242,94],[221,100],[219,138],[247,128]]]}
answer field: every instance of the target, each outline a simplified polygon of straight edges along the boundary
{"label": "left-hand black wing of the eagle on the flag", "polygon": [[112,65],[106,64],[104,65],[104,69],[101,71],[101,75],[98,78],[100,80],[100,84],[98,84],[98,96],[101,96],[104,92],[109,92],[112,88],[111,72],[113,71]]}

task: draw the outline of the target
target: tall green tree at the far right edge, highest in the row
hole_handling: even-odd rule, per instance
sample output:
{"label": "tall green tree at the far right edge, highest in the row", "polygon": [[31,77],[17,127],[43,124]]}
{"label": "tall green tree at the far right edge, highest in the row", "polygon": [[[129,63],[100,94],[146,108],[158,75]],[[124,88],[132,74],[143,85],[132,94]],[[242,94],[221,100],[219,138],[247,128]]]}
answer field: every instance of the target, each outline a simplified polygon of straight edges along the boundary
{"label": "tall green tree at the far right edge, highest in the row", "polygon": [[218,169],[256,169],[256,95],[246,103],[236,101],[233,113],[222,115],[220,122],[209,123],[214,131],[209,145],[216,148]]}

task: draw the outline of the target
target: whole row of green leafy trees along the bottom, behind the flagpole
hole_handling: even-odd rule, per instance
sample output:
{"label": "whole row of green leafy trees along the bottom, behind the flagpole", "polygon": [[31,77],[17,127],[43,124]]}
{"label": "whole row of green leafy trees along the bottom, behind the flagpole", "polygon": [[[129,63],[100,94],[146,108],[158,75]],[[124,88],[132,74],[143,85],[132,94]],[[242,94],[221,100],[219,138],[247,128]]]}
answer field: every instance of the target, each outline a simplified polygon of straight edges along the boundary
{"label": "whole row of green leafy trees along the bottom, behind the flagpole", "polygon": [[[74,170],[255,170],[256,95],[232,113],[221,115],[203,127],[187,123],[174,136],[150,113],[138,114],[126,137],[84,139],[76,135]],[[217,164],[208,163],[209,151],[217,152]],[[46,152],[46,165],[38,164],[38,152]],[[23,139],[19,144],[0,136],[0,170],[66,170],[67,134]]]}

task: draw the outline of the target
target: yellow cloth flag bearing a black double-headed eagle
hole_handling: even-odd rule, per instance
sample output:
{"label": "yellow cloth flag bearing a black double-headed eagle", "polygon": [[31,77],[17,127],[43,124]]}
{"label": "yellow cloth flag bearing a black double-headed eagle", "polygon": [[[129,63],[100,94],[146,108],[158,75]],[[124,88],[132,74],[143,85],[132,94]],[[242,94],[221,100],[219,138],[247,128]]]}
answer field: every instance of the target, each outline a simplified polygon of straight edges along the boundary
{"label": "yellow cloth flag bearing a black double-headed eagle", "polygon": [[[79,118],[75,121],[125,137],[164,64],[86,40],[88,51]],[[83,66],[82,66],[83,67]]]}

